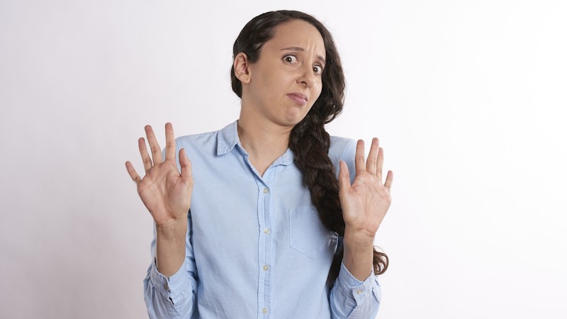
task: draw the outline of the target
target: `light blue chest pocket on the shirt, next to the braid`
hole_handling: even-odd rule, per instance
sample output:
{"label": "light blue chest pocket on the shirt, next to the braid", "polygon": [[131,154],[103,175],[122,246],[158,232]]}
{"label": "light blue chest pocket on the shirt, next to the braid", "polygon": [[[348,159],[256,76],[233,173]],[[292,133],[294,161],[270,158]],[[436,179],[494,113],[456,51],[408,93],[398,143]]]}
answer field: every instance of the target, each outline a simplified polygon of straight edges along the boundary
{"label": "light blue chest pocket on the shirt, next to the braid", "polygon": [[337,250],[339,235],[325,228],[314,206],[289,210],[289,245],[311,259]]}

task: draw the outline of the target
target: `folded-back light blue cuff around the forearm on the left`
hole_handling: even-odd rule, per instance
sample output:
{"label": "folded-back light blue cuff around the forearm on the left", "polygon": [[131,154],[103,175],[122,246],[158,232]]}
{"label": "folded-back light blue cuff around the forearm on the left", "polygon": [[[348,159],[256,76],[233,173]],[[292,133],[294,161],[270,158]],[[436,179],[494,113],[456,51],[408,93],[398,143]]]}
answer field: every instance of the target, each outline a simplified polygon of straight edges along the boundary
{"label": "folded-back light blue cuff around the forearm on the left", "polygon": [[183,298],[186,291],[191,291],[189,287],[189,273],[185,269],[185,264],[181,264],[179,270],[167,278],[157,270],[157,265],[154,259],[152,268],[150,269],[150,281],[152,286],[159,291],[164,298],[169,299],[175,303],[178,298]]}

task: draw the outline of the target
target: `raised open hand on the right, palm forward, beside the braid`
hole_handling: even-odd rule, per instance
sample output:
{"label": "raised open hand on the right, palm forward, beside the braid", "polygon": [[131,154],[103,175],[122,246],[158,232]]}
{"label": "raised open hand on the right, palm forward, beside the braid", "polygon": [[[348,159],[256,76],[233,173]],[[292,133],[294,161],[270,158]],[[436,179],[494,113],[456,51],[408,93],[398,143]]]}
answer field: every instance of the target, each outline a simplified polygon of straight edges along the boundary
{"label": "raised open hand on the right, palm forward, beside the braid", "polygon": [[357,142],[354,158],[357,175],[350,184],[349,169],[345,162],[340,162],[339,198],[345,223],[345,235],[355,235],[358,240],[374,241],[378,227],[382,223],[392,201],[391,187],[393,172],[388,171],[382,184],[384,152],[378,147],[378,138],[372,139],[372,145],[366,164],[364,163],[364,141]]}

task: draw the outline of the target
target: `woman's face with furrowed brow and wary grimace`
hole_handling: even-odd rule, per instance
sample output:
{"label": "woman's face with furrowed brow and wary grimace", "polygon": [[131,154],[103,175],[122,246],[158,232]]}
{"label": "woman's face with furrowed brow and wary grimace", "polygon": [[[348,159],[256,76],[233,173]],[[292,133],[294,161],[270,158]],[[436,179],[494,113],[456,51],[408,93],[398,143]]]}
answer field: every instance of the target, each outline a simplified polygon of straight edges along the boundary
{"label": "woman's face with furrowed brow and wary grimace", "polygon": [[276,28],[264,43],[259,60],[249,65],[242,107],[283,126],[294,126],[307,115],[322,89],[325,43],[310,23],[293,20]]}

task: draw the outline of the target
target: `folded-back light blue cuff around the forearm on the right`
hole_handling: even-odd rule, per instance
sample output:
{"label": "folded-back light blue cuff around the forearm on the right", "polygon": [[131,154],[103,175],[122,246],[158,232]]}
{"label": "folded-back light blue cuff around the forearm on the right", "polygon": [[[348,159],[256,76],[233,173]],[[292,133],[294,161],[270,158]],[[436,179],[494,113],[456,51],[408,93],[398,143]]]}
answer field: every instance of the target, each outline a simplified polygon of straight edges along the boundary
{"label": "folded-back light blue cuff around the forearm on the right", "polygon": [[347,267],[341,262],[341,270],[337,279],[340,291],[349,299],[354,299],[357,305],[364,302],[366,296],[372,294],[379,301],[377,293],[380,291],[378,280],[374,275],[374,269],[368,278],[359,281],[349,272]]}

